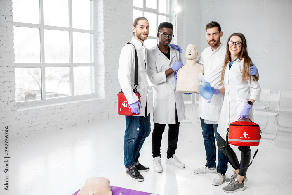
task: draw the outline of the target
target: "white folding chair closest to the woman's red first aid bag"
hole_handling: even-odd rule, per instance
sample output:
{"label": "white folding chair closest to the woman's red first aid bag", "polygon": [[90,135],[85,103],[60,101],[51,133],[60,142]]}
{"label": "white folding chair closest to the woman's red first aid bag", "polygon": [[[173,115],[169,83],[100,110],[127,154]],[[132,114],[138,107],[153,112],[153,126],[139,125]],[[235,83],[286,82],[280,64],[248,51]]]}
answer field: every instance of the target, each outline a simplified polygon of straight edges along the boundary
{"label": "white folding chair closest to the woman's red first aid bag", "polygon": [[[254,107],[254,115],[256,116],[265,116],[265,117],[275,117],[275,120],[274,120],[274,125],[273,125],[273,128],[275,129],[275,124],[276,124],[276,131],[272,134],[275,135],[274,138],[272,139],[275,139],[277,137],[277,130],[278,130],[278,119],[279,119],[279,107],[280,107],[280,94],[266,94],[266,93],[261,93],[260,94],[260,101],[274,101],[274,102],[278,102],[277,104],[277,108],[275,110],[275,112],[273,111],[267,111],[267,112],[264,112],[264,111],[257,111],[255,108],[256,106]],[[256,102],[255,102],[256,104]],[[266,122],[266,125],[267,125],[267,122]],[[271,133],[266,133],[266,134],[271,134]],[[270,138],[269,138],[270,139]]]}

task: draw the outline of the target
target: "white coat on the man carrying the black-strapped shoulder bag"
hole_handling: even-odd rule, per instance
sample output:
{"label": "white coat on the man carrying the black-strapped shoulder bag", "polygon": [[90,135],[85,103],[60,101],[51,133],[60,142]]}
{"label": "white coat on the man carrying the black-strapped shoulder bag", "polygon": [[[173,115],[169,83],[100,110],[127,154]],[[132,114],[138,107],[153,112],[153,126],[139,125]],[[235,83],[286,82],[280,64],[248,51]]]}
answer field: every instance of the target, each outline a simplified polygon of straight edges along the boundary
{"label": "white coat on the man carrying the black-strapped shoulder bag", "polygon": [[[130,41],[136,50],[138,55],[138,89],[137,91],[141,96],[140,114],[138,116],[148,116],[149,114],[149,103],[148,103],[148,79],[146,73],[147,64],[147,52],[148,49],[145,48],[140,41],[132,38]],[[138,97],[133,92],[135,89],[135,49],[131,44],[125,45],[121,50],[120,60],[119,60],[119,70],[118,78],[121,88],[129,104],[138,101]],[[147,113],[145,113],[147,103]]]}

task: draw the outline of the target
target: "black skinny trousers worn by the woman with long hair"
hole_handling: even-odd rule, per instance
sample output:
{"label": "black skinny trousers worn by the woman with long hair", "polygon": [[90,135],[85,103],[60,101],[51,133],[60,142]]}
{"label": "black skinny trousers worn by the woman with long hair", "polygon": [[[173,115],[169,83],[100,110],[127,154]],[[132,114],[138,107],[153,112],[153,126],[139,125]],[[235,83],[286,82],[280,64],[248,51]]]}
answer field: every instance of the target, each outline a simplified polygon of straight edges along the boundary
{"label": "black skinny trousers worn by the woman with long hair", "polygon": [[247,172],[247,168],[242,169],[244,167],[247,167],[251,161],[251,147],[249,146],[238,146],[238,149],[241,151],[241,158],[240,163],[237,159],[237,156],[234,152],[234,150],[228,145],[227,154],[225,151],[225,140],[218,135],[218,141],[217,146],[218,149],[221,150],[227,158],[229,158],[229,163],[234,169],[239,169],[238,175],[245,176]]}

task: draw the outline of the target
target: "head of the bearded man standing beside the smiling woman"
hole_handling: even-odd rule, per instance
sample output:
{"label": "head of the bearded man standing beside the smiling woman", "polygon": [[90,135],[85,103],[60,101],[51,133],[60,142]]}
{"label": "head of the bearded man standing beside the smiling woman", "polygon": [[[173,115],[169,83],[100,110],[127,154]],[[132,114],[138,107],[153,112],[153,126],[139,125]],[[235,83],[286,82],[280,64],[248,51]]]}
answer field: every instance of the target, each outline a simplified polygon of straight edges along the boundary
{"label": "head of the bearded man standing beside the smiling woman", "polygon": [[218,22],[212,21],[206,25],[206,38],[211,47],[217,48],[220,45],[220,37],[222,35],[223,32]]}

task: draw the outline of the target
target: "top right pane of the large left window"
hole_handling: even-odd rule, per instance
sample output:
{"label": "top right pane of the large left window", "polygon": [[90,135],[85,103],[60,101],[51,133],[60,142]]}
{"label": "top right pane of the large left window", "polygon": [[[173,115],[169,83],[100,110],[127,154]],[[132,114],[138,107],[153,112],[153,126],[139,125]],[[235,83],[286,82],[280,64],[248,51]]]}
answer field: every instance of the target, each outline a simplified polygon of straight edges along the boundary
{"label": "top right pane of the large left window", "polygon": [[93,30],[92,25],[92,8],[93,1],[73,0],[73,28]]}

